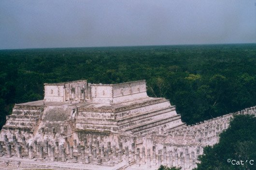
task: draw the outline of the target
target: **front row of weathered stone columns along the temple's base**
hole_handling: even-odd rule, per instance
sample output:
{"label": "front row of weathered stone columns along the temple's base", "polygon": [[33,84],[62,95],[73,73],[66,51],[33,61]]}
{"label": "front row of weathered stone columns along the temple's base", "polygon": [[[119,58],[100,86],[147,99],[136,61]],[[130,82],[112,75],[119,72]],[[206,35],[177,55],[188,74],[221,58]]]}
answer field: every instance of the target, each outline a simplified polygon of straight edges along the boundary
{"label": "front row of weathered stone columns along the temple's base", "polygon": [[[15,138],[15,137],[14,137]],[[7,155],[12,156],[11,152],[11,143],[8,142],[8,139],[6,139],[6,148],[7,148]],[[16,155],[18,158],[22,157],[22,146],[25,145],[27,147],[27,153],[28,153],[28,158],[33,159],[35,154],[38,157],[39,160],[44,159],[44,154],[47,154],[47,156],[50,158],[51,161],[55,161],[55,154],[58,154],[60,156],[61,161],[65,162],[68,157],[67,154],[69,155],[69,158],[71,159],[76,159],[73,155],[73,146],[70,146],[69,143],[67,143],[66,148],[62,146],[59,146],[58,142],[55,143],[55,146],[51,146],[48,144],[48,142],[44,143],[44,146],[40,145],[37,143],[37,141],[33,142],[33,145],[28,146],[28,144],[24,144],[22,142],[16,142],[14,139],[14,150],[16,151]],[[85,146],[82,146],[80,144],[76,144],[76,149],[77,149],[77,155],[81,156],[81,159],[85,163],[90,163],[90,158],[92,159],[97,159],[98,164],[104,162],[113,162],[113,159],[117,160],[115,162],[121,162],[122,161],[122,155],[125,153],[125,160],[127,163],[131,162],[136,162],[136,165],[139,167],[141,165],[145,165],[147,163],[148,167],[153,166],[153,165],[158,165],[158,164],[164,164],[164,165],[179,165],[181,166],[183,161],[184,162],[191,162],[191,159],[193,159],[193,162],[195,163],[195,156],[189,156],[188,152],[186,153],[185,156],[182,154],[178,156],[177,153],[172,153],[171,151],[167,152],[167,147],[164,146],[163,149],[158,150],[158,154],[156,154],[156,146],[154,145],[152,147],[152,153],[153,155],[150,155],[150,149],[147,150],[147,156],[145,155],[145,147],[142,148],[136,148],[135,143],[132,143],[129,147],[125,147],[125,152],[123,151],[123,144],[119,143],[119,149],[116,149],[116,146],[113,145],[111,146],[111,143],[107,143],[107,148],[104,147],[104,145],[101,145],[99,148],[92,147],[92,144],[90,143],[89,146],[86,149],[86,144],[84,143]],[[96,144],[97,146],[97,144]],[[99,144],[98,144],[99,146]],[[26,147],[24,150],[26,150]],[[0,146],[0,152],[2,150],[2,147]],[[56,151],[57,150],[57,151]],[[177,150],[176,150],[177,151]],[[100,159],[100,160],[98,160]],[[179,161],[178,161],[179,160]]]}

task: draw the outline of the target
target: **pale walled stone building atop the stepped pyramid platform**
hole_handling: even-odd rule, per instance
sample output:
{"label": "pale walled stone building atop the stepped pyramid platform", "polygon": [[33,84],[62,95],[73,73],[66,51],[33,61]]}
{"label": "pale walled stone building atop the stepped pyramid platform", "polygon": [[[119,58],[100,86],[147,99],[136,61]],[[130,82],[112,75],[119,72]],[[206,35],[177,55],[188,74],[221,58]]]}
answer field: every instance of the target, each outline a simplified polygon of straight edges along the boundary
{"label": "pale walled stone building atop the stepped pyramid platform", "polygon": [[120,103],[145,97],[147,97],[145,80],[112,85],[87,84],[86,80],[44,84],[45,101]]}

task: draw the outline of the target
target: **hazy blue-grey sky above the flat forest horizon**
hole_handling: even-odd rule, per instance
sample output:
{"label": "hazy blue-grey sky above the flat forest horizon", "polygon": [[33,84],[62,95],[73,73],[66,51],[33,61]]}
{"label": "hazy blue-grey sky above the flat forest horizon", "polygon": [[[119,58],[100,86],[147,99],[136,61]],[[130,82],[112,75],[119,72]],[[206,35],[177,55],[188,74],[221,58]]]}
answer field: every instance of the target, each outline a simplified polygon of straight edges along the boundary
{"label": "hazy blue-grey sky above the flat forest horizon", "polygon": [[256,0],[0,0],[0,49],[255,42]]}

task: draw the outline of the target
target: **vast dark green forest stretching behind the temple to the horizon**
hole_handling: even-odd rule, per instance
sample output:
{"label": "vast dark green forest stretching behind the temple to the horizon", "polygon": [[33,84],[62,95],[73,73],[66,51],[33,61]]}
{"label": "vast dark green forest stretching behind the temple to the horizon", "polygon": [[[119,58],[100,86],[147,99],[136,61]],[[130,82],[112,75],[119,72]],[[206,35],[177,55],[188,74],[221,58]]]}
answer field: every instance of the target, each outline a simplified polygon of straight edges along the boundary
{"label": "vast dark green forest stretching behind the temple to the horizon", "polygon": [[0,50],[0,128],[14,103],[43,99],[43,83],[145,79],[187,124],[256,105],[256,44]]}

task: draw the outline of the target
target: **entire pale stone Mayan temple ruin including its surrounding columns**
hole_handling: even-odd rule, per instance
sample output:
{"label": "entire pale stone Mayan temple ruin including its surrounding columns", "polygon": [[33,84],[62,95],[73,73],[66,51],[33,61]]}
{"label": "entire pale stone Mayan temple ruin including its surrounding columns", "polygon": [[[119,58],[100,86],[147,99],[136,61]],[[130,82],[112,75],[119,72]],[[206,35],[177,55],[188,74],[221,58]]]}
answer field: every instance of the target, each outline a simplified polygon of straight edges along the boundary
{"label": "entire pale stone Mayan temple ruin including its surrounding columns", "polygon": [[1,170],[192,170],[235,114],[187,126],[146,81],[44,84],[44,99],[15,104],[0,132]]}

